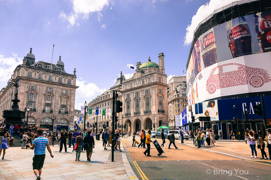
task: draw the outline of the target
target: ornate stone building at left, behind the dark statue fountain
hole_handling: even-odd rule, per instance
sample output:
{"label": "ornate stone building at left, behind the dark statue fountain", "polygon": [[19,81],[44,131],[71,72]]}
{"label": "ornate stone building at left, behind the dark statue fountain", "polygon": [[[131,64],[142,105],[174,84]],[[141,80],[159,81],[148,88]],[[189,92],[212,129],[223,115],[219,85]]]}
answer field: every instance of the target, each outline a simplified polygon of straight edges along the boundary
{"label": "ornate stone building at left, behind the dark statue fountain", "polygon": [[[41,128],[56,130],[73,127],[74,101],[76,86],[76,71],[68,74],[64,69],[61,56],[55,64],[44,61],[35,62],[32,48],[20,64],[14,70],[9,81],[15,82],[20,78],[18,98],[22,111],[30,109],[28,125],[39,125]],[[11,108],[11,99],[14,98],[13,83],[0,91],[0,121],[3,121],[3,110]],[[26,112],[27,115],[27,112]],[[55,117],[51,119],[52,117]],[[70,126],[69,126],[70,125]]]}

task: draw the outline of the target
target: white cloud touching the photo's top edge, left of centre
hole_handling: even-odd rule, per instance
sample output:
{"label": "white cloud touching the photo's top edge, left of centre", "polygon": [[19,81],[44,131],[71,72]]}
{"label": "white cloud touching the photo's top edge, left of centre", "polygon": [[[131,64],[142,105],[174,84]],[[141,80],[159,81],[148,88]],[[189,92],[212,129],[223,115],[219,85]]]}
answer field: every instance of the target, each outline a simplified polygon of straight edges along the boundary
{"label": "white cloud touching the photo's top edge, left of centre", "polygon": [[61,11],[60,17],[70,22],[68,28],[74,26],[79,17],[82,17],[82,19],[89,19],[89,14],[95,12],[98,13],[98,21],[100,21],[102,17],[101,11],[104,8],[109,8],[110,2],[112,8],[112,6],[114,6],[113,0],[73,0],[73,11],[70,15],[66,15],[66,13]]}

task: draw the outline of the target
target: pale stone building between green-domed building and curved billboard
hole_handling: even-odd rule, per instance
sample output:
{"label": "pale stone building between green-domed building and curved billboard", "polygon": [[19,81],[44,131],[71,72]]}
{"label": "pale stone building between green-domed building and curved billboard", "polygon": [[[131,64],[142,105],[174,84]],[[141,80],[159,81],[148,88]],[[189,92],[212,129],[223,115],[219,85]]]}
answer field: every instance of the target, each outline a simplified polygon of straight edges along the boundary
{"label": "pale stone building between green-domed building and curved billboard", "polygon": [[175,129],[175,116],[181,115],[187,106],[186,77],[173,76],[168,82],[168,125]]}

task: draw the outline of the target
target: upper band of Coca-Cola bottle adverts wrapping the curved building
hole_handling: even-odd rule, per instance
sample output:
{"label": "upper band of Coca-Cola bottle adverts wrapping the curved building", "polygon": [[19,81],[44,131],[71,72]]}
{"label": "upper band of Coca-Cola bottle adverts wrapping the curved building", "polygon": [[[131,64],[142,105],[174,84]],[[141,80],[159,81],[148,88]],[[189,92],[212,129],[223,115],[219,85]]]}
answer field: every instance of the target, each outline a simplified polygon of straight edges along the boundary
{"label": "upper band of Coca-Cola bottle adverts wrapping the curved building", "polygon": [[193,62],[188,64],[186,74],[190,81],[188,91],[192,87],[191,80],[194,81],[206,67],[232,58],[271,51],[271,11],[241,16],[209,29],[198,38],[192,51]]}

